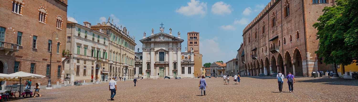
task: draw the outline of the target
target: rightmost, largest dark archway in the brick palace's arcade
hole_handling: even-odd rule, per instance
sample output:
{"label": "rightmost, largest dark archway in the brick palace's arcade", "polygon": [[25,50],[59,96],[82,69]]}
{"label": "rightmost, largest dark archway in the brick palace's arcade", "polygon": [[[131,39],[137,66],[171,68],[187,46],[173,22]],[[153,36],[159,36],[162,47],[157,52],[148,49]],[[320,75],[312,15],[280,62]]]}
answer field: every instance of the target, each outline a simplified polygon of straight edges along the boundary
{"label": "rightmost, largest dark archway in the brick palace's arcade", "polygon": [[302,56],[298,49],[294,51],[292,64],[295,67],[295,75],[303,76]]}

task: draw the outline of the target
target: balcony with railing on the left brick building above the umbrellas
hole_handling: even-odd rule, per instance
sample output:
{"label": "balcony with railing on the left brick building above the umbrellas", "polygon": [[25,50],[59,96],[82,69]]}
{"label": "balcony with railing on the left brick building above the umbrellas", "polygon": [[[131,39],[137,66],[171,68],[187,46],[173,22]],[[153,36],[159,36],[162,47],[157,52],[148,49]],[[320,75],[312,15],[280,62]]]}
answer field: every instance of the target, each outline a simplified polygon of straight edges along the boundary
{"label": "balcony with railing on the left brick building above the umbrellas", "polygon": [[13,55],[19,50],[19,44],[0,41],[0,50],[4,50],[5,55]]}

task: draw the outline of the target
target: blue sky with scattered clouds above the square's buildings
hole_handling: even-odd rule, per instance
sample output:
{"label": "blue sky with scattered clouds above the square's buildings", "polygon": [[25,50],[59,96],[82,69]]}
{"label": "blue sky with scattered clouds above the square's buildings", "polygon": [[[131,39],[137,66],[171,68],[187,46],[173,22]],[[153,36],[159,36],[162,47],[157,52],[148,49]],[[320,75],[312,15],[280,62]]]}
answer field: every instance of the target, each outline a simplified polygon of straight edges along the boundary
{"label": "blue sky with scattered clouds above the square's buildings", "polygon": [[[180,31],[187,47],[187,32],[200,32],[200,53],[203,63],[236,57],[242,42],[242,30],[255,18],[270,0],[68,0],[69,21],[83,25],[84,21],[96,25],[108,17],[120,26],[127,27],[135,36],[136,49],[143,32],[147,37],[154,28],[159,32],[164,23],[165,33]],[[184,50],[182,50],[184,52]]]}

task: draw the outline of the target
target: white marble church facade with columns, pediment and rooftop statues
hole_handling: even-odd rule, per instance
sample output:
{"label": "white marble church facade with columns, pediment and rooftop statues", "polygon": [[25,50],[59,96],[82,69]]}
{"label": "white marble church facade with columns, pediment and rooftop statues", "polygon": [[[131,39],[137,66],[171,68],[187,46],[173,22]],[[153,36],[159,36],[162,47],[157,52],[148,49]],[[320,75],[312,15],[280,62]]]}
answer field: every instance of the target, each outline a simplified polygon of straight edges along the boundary
{"label": "white marble church facade with columns, pediment and rooftop statues", "polygon": [[[164,76],[171,78],[193,78],[194,73],[194,52],[182,52],[180,33],[178,37],[161,32],[152,34],[149,37],[143,36],[140,42],[143,44],[142,53],[136,53],[136,75],[143,78],[157,79]],[[183,49],[184,50],[184,49]],[[140,59],[141,58],[141,59]],[[141,62],[139,62],[141,61]],[[141,71],[141,73],[140,73]]]}

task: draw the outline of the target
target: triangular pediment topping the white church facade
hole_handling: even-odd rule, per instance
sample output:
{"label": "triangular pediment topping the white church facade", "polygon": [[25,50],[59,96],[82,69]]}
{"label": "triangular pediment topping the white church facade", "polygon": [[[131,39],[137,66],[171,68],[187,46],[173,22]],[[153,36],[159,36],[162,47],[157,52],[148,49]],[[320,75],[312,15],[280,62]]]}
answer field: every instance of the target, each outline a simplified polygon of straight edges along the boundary
{"label": "triangular pediment topping the white church facade", "polygon": [[156,34],[153,34],[149,37],[146,37],[144,39],[139,40],[140,42],[146,42],[146,41],[181,41],[183,42],[183,39],[180,39],[178,37],[174,37],[170,34],[159,32]]}

